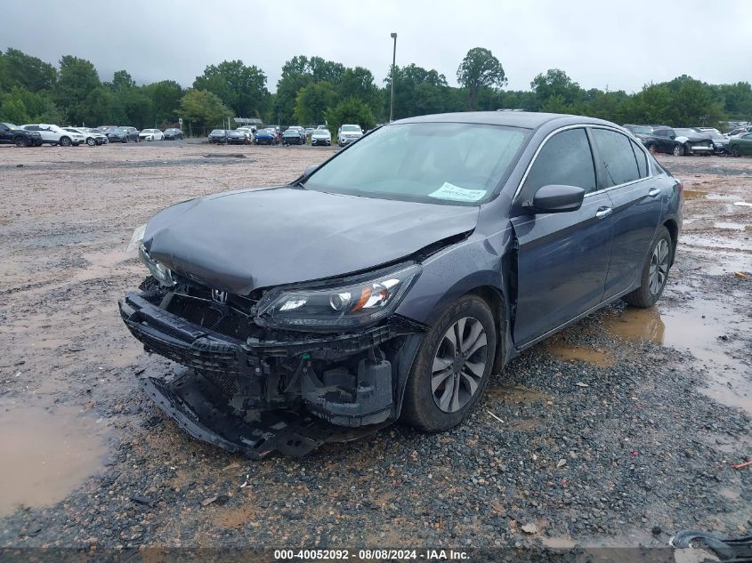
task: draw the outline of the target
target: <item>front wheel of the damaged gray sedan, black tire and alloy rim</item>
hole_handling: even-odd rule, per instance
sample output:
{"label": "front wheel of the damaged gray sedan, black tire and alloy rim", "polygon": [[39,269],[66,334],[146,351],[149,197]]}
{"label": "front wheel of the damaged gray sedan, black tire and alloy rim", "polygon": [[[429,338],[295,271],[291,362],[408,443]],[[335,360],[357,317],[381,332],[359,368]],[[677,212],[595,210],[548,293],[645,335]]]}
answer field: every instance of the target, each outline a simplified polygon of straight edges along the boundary
{"label": "front wheel of the damaged gray sedan, black tire and alloy rim", "polygon": [[[465,351],[457,352],[454,342]],[[496,322],[486,302],[468,294],[447,306],[417,351],[405,388],[402,421],[427,432],[457,426],[488,385],[496,347]]]}

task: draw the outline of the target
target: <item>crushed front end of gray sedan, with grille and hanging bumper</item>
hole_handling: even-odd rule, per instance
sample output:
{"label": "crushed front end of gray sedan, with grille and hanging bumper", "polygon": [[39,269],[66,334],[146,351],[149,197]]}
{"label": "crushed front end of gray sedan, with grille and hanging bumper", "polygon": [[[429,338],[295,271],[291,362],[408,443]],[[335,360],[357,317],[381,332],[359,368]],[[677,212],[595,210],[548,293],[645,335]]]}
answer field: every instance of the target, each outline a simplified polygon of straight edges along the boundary
{"label": "crushed front end of gray sedan, with grille and hanging bumper", "polygon": [[228,294],[180,276],[141,289],[119,302],[125,325],[145,350],[190,368],[142,385],[196,438],[254,458],[302,455],[399,415],[424,326],[391,314],[363,327],[279,328],[261,320],[269,292]]}

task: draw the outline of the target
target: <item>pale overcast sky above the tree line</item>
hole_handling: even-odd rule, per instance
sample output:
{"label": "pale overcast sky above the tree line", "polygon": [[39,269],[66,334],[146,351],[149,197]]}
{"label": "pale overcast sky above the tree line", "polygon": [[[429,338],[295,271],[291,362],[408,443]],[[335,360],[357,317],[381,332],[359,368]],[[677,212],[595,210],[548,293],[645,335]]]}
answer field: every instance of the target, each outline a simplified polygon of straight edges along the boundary
{"label": "pale overcast sky above the tree line", "polygon": [[752,0],[310,0],[0,2],[0,49],[56,63],[91,60],[101,80],[119,69],[138,84],[190,86],[204,68],[243,60],[273,92],[282,65],[319,56],[371,70],[435,68],[457,84],[473,47],[501,61],[506,88],[527,90],[548,68],[583,88],[639,91],[687,74],[711,84],[752,81]]}

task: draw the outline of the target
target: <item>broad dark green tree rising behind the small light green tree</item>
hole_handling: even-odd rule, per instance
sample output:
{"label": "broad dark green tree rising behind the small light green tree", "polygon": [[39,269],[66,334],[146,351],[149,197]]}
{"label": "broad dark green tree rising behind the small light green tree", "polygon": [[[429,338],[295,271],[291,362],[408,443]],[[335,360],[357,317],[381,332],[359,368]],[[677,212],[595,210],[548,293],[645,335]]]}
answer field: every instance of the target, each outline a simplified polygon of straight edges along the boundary
{"label": "broad dark green tree rising behind the small light green tree", "polygon": [[260,117],[269,100],[263,70],[247,67],[242,60],[209,65],[193,81],[193,88],[214,93],[238,117]]}

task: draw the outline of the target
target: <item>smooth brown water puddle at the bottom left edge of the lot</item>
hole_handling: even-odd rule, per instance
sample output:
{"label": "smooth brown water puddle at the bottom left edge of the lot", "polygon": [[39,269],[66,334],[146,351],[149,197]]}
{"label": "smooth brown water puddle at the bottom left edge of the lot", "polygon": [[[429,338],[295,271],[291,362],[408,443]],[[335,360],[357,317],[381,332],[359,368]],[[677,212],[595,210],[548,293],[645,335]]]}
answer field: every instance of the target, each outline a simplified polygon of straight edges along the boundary
{"label": "smooth brown water puddle at the bottom left edge of the lot", "polygon": [[57,503],[101,470],[106,430],[77,408],[5,404],[0,428],[0,516]]}

